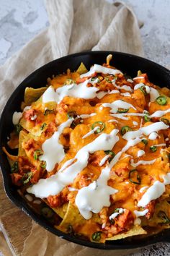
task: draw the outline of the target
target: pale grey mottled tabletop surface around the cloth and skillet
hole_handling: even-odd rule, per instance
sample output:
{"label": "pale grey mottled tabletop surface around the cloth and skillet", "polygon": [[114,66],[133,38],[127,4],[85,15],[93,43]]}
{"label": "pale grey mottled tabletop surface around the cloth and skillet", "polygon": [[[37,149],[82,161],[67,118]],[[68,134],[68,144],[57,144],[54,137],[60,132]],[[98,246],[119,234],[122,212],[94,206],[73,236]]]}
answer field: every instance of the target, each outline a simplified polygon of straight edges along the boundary
{"label": "pale grey mottled tabletop surface around the cloth and skillet", "polygon": [[[112,0],[110,0],[112,1]],[[170,66],[170,1],[127,0],[141,27],[143,48],[147,59]],[[6,0],[0,8],[0,64],[49,25],[43,0]],[[0,252],[1,255],[1,252]],[[133,256],[168,256],[170,244],[159,243],[141,249]]]}

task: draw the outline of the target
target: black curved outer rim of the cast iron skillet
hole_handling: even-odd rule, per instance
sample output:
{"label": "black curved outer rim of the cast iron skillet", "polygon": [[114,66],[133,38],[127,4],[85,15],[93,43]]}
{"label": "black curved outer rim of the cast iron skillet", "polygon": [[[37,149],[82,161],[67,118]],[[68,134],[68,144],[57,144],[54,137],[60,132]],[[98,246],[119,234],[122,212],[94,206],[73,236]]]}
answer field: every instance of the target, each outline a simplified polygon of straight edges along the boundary
{"label": "black curved outer rim of the cast iron skillet", "polygon": [[[5,115],[6,115],[7,109],[9,108],[10,102],[15,98],[16,93],[18,93],[19,90],[21,90],[22,88],[25,88],[27,85],[25,86],[24,84],[27,83],[27,81],[31,80],[32,77],[35,77],[36,74],[38,74],[40,72],[44,72],[45,69],[47,69],[47,67],[53,66],[55,64],[57,66],[59,61],[63,61],[63,62],[69,61],[69,59],[75,58],[75,57],[80,57],[80,59],[81,59],[82,56],[92,56],[92,57],[94,56],[94,59],[95,59],[95,55],[97,55],[97,54],[103,55],[103,57],[107,56],[108,54],[112,54],[113,56],[114,55],[115,56],[116,55],[124,56],[127,58],[137,59],[138,61],[146,62],[148,65],[150,64],[151,66],[158,69],[160,72],[163,72],[164,74],[169,76],[169,83],[170,83],[169,69],[166,69],[165,67],[162,67],[160,64],[156,64],[155,62],[145,59],[143,57],[135,56],[133,54],[125,54],[125,53],[118,52],[118,51],[85,51],[85,52],[80,52],[77,54],[70,54],[67,56],[63,56],[62,58],[50,61],[47,64],[43,65],[42,67],[36,69],[34,72],[29,74],[14,90],[12,95],[9,97],[9,100],[7,101],[6,105],[4,106],[4,110],[2,111],[2,114],[1,114],[1,119],[0,119],[0,155],[1,155],[0,165],[1,165],[1,173],[2,173],[2,177],[3,177],[3,184],[4,184],[4,189],[5,189],[6,195],[9,197],[9,199],[15,205],[17,205],[17,207],[22,209],[24,211],[24,213],[26,213],[28,216],[30,216],[36,223],[38,223],[43,228],[47,229],[48,231],[52,232],[53,234],[55,234],[59,237],[62,237],[63,239],[68,240],[69,242],[81,244],[86,247],[92,247],[92,248],[97,248],[97,249],[133,249],[133,248],[145,247],[147,245],[155,244],[156,242],[170,242],[170,229],[169,229],[169,232],[167,232],[168,230],[165,230],[161,233],[158,233],[158,235],[156,235],[156,236],[151,236],[148,238],[146,237],[146,239],[140,239],[139,244],[138,244],[139,240],[133,240],[133,241],[128,242],[127,244],[122,244],[121,242],[119,243],[120,240],[102,244],[102,243],[89,242],[86,240],[82,240],[82,239],[70,236],[68,234],[63,233],[62,231],[59,231],[58,229],[51,227],[44,219],[40,218],[40,216],[37,216],[24,200],[19,201],[19,196],[16,197],[15,195],[12,194],[12,190],[8,186],[9,177],[6,174],[6,164],[3,161],[4,153],[2,152],[2,149],[1,149],[2,141],[3,141],[2,130],[3,130],[4,120],[6,118]],[[167,236],[167,233],[168,233],[168,236]],[[121,241],[125,241],[125,240],[121,239]]]}

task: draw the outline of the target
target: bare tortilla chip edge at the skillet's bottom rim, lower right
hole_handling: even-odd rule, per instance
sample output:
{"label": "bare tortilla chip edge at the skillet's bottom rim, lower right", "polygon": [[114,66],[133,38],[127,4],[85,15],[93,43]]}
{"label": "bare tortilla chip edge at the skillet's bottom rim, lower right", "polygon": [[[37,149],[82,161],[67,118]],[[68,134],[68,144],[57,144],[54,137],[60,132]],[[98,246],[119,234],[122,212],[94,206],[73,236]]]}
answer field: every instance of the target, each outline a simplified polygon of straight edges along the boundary
{"label": "bare tortilla chip edge at the skillet's bottom rim, lower right", "polygon": [[125,233],[117,234],[115,236],[107,238],[106,240],[111,241],[111,240],[125,239],[128,236],[138,236],[141,234],[147,234],[147,232],[140,226],[133,226],[133,229],[130,229]]}

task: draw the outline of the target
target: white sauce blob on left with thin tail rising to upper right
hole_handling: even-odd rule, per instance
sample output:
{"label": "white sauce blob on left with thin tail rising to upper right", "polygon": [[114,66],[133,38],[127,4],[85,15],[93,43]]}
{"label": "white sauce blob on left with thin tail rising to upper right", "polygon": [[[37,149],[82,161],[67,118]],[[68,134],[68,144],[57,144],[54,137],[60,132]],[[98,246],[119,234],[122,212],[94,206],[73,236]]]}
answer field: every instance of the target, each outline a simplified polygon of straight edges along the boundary
{"label": "white sauce blob on left with thin tail rising to upper right", "polygon": [[45,140],[42,144],[43,155],[40,155],[40,161],[46,161],[47,171],[52,171],[56,163],[63,160],[65,153],[63,145],[59,142],[59,137],[63,132],[63,129],[70,127],[73,119],[68,119],[58,127],[58,131],[54,132],[50,139]]}

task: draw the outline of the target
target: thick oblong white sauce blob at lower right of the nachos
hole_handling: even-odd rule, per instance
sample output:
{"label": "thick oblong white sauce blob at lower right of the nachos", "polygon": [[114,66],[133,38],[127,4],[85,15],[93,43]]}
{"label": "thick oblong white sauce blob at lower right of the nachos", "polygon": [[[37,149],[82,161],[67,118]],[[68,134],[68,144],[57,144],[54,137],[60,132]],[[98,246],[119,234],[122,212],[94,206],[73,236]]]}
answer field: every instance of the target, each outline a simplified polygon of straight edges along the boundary
{"label": "thick oblong white sauce blob at lower right of the nachos", "polygon": [[159,181],[153,183],[138,202],[138,207],[146,207],[149,202],[156,200],[165,192],[165,185]]}

